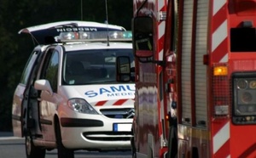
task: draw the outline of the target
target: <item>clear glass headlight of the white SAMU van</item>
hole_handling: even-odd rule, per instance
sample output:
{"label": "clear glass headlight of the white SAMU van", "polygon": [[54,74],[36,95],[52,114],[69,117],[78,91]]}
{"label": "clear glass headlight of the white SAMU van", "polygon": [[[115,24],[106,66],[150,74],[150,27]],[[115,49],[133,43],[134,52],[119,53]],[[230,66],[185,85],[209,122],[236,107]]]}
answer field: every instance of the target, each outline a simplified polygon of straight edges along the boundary
{"label": "clear glass headlight of the white SAMU van", "polygon": [[71,110],[77,112],[84,114],[98,114],[84,99],[69,99],[67,105]]}

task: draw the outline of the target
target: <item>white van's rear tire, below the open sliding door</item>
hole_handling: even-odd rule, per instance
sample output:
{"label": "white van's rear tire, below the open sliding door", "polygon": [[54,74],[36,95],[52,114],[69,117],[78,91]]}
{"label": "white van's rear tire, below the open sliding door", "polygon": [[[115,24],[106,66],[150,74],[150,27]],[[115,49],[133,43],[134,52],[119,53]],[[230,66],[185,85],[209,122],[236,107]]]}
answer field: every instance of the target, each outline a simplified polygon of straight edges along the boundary
{"label": "white van's rear tire, below the open sliding door", "polygon": [[33,144],[32,134],[26,133],[25,135],[26,158],[44,158],[45,149],[35,146]]}

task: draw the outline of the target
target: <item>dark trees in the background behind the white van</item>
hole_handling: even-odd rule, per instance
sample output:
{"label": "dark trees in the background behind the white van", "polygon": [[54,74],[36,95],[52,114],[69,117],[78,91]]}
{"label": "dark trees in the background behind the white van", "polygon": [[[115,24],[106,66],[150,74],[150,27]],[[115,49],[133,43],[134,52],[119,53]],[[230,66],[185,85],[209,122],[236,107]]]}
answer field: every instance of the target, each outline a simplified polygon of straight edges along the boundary
{"label": "dark trees in the background behind the white van", "polygon": [[[107,20],[103,0],[0,0],[0,131],[11,130],[15,87],[34,47],[20,29],[61,20]],[[82,5],[81,5],[82,4]],[[132,1],[108,0],[108,23],[131,30]]]}

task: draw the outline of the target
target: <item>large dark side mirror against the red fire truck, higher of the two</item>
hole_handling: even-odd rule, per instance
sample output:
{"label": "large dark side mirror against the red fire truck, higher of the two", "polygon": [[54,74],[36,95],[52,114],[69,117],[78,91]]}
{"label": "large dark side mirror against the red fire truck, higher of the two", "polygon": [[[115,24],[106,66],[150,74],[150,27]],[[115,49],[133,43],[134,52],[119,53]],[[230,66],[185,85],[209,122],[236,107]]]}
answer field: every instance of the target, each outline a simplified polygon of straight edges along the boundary
{"label": "large dark side mirror against the red fire truck, higher of the two", "polygon": [[150,58],[154,55],[153,20],[149,16],[137,16],[132,21],[134,54],[137,58]]}

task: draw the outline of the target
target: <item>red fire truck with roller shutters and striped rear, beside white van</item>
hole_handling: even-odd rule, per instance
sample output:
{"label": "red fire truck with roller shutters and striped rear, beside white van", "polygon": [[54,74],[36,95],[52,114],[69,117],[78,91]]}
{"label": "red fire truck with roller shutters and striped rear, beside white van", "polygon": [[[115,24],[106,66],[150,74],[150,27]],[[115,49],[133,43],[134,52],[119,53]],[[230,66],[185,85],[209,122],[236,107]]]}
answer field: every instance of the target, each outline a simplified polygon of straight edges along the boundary
{"label": "red fire truck with roller shutters and striped rear, beside white van", "polygon": [[133,157],[256,157],[256,0],[166,2],[134,0]]}

